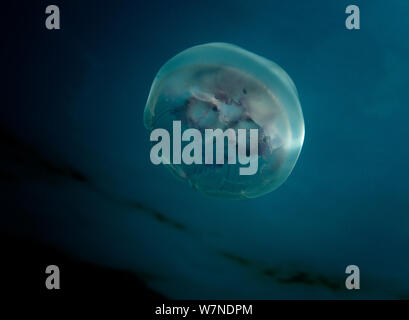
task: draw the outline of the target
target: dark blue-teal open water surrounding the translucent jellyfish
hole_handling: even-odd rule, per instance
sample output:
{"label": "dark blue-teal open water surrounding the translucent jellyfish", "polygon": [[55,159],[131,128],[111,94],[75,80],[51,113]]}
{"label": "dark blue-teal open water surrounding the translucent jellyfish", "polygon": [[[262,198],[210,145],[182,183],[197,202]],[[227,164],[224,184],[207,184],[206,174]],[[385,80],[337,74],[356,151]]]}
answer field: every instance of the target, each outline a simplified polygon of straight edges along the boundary
{"label": "dark blue-teal open water surrounding the translucent jellyfish", "polygon": [[[3,235],[168,298],[409,297],[408,1],[53,1],[53,31],[48,4],[8,4],[0,22]],[[345,28],[349,4],[360,30]],[[211,198],[150,162],[152,81],[208,42],[297,87],[304,146],[260,198]],[[345,289],[350,264],[360,290]]]}

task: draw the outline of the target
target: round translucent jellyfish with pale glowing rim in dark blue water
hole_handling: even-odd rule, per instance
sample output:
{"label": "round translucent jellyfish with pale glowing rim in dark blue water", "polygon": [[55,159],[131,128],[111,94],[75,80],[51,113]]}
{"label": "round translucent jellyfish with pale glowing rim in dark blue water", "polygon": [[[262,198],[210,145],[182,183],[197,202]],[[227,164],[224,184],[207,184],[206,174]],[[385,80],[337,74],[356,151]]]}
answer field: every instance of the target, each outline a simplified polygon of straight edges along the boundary
{"label": "round translucent jellyfish with pale glowing rim in dark blue water", "polygon": [[[304,119],[291,78],[274,62],[227,43],[198,45],[166,62],[153,81],[144,124],[151,131],[151,141],[152,132],[159,128],[173,132],[167,142],[181,140],[173,145],[173,158],[161,151],[166,158],[163,163],[176,177],[208,195],[225,198],[255,198],[278,188],[293,170],[304,140]],[[204,137],[199,140],[203,151],[196,155],[203,161],[183,162],[180,156],[175,161],[175,153],[190,143],[183,139],[185,135],[180,138],[188,129],[196,129]],[[209,129],[233,130],[223,135],[222,140],[228,142],[222,146],[224,162],[204,159],[205,148],[216,140],[209,142]],[[240,138],[240,129],[250,133],[257,129],[256,155],[249,148],[248,136]],[[228,150],[236,145],[234,152]],[[240,174],[243,163],[227,159],[230,151],[235,157],[240,157],[240,152],[255,156],[257,171]],[[218,157],[217,150],[215,153],[209,154]]]}

